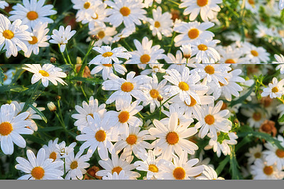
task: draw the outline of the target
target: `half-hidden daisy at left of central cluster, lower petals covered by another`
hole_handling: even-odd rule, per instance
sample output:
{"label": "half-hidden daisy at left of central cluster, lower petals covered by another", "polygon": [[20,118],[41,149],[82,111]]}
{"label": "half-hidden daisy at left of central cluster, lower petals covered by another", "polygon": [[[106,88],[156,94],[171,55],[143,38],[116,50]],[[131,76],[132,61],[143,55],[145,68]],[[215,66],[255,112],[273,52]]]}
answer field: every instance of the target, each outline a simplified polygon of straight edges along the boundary
{"label": "half-hidden daisy at left of central cluster, lower petals covered by another", "polygon": [[102,119],[104,117],[104,113],[107,112],[106,104],[100,104],[97,99],[94,97],[89,97],[89,103],[83,101],[82,107],[76,105],[75,109],[79,114],[72,114],[71,117],[77,119],[74,125],[78,127],[79,131],[82,131],[84,126],[89,126],[87,121],[87,116],[94,117],[94,113],[99,114],[99,117]]}

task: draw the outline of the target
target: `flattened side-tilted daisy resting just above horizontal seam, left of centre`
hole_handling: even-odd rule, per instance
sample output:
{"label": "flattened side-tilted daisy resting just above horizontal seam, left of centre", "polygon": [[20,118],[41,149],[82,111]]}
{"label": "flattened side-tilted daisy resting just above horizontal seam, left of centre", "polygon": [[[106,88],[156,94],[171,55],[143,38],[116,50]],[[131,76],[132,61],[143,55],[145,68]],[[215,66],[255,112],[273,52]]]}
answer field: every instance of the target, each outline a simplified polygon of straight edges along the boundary
{"label": "flattened side-tilted daisy resting just above horizontal seam, left of centre", "polygon": [[89,64],[102,63],[109,65],[112,61],[114,61],[114,63],[119,63],[119,58],[125,58],[126,60],[131,58],[131,54],[129,54],[124,47],[114,48],[111,50],[110,46],[102,46],[101,48],[94,47],[93,49],[100,53],[100,55],[93,58]]}

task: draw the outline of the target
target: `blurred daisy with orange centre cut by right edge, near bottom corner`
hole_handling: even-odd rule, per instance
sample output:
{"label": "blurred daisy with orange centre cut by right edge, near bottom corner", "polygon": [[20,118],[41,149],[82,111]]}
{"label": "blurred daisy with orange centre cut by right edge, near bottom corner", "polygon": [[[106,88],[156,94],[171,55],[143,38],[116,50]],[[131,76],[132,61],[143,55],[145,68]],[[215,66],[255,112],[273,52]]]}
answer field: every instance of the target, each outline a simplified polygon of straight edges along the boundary
{"label": "blurred daisy with orange centre cut by right edge, near bottom corner", "polygon": [[[283,136],[278,135],[277,139],[280,142],[280,145],[284,147]],[[267,161],[267,165],[272,166],[273,164],[276,164],[279,170],[283,170],[284,169],[283,149],[278,148],[277,146],[271,144],[270,142],[267,142],[266,144],[264,144],[264,146],[266,146],[267,148],[266,151],[263,151],[263,155],[265,160]]]}

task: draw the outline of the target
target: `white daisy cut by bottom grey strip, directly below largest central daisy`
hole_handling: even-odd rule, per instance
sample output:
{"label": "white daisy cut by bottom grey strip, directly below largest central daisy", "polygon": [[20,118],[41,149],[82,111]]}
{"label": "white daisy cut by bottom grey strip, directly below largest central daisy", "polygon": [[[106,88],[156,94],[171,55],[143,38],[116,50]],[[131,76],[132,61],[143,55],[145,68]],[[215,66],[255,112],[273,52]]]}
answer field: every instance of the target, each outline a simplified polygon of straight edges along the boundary
{"label": "white daisy cut by bottom grey strip, directly below largest central daisy", "polygon": [[198,161],[197,158],[187,161],[187,153],[182,151],[180,158],[173,156],[173,162],[164,161],[160,165],[162,171],[157,174],[157,178],[163,180],[190,180],[190,177],[200,175],[204,171],[203,166],[195,166]]}

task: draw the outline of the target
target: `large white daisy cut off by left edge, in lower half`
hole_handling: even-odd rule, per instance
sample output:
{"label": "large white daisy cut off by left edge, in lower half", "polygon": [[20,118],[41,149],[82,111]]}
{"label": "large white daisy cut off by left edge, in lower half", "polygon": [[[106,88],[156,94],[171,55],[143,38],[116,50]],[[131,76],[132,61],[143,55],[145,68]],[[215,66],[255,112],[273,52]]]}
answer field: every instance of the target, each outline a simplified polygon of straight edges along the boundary
{"label": "large white daisy cut off by left edge, in lower half", "polygon": [[31,121],[26,121],[29,112],[16,115],[14,104],[1,105],[0,109],[0,143],[1,150],[5,154],[13,153],[13,143],[20,148],[26,147],[26,141],[20,134],[33,134],[33,130],[26,128],[31,126]]}

